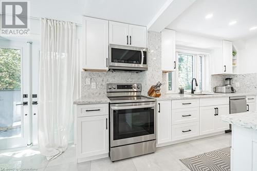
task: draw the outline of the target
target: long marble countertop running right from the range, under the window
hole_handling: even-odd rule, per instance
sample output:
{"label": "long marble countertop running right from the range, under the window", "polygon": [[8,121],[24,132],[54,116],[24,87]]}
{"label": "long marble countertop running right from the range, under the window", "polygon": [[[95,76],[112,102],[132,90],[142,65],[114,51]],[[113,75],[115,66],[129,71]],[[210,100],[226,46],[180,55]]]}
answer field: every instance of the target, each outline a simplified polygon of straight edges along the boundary
{"label": "long marble countertop running right from the range, under the window", "polygon": [[[198,93],[196,93],[198,94]],[[216,98],[216,97],[232,97],[232,96],[255,96],[256,92],[249,93],[203,93],[211,95],[195,96],[191,94],[162,94],[160,97],[156,97],[157,100],[180,100],[180,99],[199,99],[199,98]]]}

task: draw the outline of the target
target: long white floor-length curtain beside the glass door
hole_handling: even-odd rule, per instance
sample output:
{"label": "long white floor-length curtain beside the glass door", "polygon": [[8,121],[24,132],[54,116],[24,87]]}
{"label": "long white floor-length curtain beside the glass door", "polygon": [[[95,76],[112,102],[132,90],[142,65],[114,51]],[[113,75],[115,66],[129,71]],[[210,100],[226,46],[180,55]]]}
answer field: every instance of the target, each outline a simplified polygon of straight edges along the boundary
{"label": "long white floor-length curtain beside the glass door", "polygon": [[76,24],[41,19],[39,147],[48,160],[68,146],[73,120]]}

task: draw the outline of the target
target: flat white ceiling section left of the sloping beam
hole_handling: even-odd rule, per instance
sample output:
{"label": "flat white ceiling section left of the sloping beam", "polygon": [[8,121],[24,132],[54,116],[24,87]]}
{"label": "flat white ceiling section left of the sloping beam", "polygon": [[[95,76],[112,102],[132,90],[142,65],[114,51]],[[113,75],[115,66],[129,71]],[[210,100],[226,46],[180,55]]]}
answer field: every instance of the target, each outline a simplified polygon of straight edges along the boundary
{"label": "flat white ceiling section left of the sloping beam", "polygon": [[147,26],[167,0],[33,0],[31,16],[81,23],[79,16]]}

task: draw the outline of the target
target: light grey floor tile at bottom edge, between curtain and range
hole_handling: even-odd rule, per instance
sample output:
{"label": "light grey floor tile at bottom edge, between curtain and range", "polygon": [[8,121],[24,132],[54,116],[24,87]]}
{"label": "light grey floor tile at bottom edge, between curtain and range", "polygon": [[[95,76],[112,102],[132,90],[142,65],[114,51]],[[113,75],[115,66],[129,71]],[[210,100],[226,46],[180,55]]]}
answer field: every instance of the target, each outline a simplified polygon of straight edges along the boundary
{"label": "light grey floor tile at bottom edge, between curtain and range", "polygon": [[64,163],[47,166],[44,171],[90,171],[90,161],[83,163]]}

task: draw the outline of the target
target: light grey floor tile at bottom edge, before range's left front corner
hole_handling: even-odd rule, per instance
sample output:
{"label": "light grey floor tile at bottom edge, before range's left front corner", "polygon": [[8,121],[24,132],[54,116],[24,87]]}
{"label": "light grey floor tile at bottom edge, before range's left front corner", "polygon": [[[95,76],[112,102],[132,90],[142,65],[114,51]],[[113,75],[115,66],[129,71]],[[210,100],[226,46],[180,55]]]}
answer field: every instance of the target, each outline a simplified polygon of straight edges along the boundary
{"label": "light grey floor tile at bottom edge, before range's left front corner", "polygon": [[91,161],[91,171],[133,171],[137,170],[132,159],[111,162],[109,158]]}

